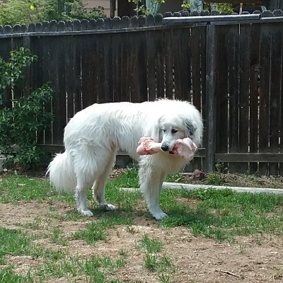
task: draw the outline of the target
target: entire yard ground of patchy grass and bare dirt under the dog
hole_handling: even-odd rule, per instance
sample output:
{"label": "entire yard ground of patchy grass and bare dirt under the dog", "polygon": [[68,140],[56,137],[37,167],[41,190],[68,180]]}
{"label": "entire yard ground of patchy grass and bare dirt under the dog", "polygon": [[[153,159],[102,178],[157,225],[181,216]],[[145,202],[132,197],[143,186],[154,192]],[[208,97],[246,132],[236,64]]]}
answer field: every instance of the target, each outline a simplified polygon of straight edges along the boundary
{"label": "entire yard ground of patchy grass and bare dirt under the dog", "polygon": [[48,180],[0,176],[0,282],[282,282],[282,195],[163,190],[155,221],[121,187],[138,187],[137,170],[108,182],[115,212],[90,191],[85,218]]}

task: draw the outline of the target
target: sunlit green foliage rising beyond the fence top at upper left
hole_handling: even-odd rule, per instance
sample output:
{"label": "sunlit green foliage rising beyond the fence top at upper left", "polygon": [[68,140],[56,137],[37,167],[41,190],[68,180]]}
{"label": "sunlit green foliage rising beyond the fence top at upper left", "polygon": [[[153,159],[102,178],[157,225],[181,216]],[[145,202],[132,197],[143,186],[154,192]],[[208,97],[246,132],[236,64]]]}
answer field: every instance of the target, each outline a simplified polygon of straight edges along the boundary
{"label": "sunlit green foliage rising beyond the fence top at upper left", "polygon": [[0,25],[104,17],[102,7],[87,11],[82,0],[0,0]]}

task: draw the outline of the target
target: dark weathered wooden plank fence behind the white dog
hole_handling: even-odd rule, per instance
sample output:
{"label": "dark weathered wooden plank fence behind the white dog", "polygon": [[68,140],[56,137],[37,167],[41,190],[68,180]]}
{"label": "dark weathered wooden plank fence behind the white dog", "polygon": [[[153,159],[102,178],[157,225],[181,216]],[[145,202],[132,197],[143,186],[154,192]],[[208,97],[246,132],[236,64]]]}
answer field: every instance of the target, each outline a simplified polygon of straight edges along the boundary
{"label": "dark weathered wooden plank fence behind the white dog", "polygon": [[[204,118],[203,147],[187,170],[283,175],[282,11],[207,12],[0,27],[0,56],[37,54],[23,96],[46,81],[55,120],[38,141],[62,151],[63,130],[92,103],[164,97],[192,101]],[[11,107],[11,90],[4,95]]]}

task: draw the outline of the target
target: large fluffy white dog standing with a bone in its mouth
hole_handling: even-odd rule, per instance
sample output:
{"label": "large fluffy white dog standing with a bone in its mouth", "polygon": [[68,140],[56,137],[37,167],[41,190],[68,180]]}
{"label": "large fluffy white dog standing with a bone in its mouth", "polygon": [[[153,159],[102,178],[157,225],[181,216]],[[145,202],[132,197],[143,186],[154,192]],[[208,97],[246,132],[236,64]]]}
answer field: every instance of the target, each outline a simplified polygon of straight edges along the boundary
{"label": "large fluffy white dog standing with a bone in its mouth", "polygon": [[[161,142],[161,151],[139,156],[138,141],[151,137]],[[94,104],[76,113],[64,129],[63,154],[57,154],[47,169],[55,190],[74,192],[77,209],[93,216],[86,204],[93,197],[105,210],[115,206],[105,200],[105,183],[118,150],[139,162],[139,185],[149,212],[155,219],[166,216],[159,207],[159,193],[168,173],[180,171],[188,162],[170,152],[177,139],[190,137],[196,145],[202,138],[202,117],[191,103],[161,99],[144,103]]]}

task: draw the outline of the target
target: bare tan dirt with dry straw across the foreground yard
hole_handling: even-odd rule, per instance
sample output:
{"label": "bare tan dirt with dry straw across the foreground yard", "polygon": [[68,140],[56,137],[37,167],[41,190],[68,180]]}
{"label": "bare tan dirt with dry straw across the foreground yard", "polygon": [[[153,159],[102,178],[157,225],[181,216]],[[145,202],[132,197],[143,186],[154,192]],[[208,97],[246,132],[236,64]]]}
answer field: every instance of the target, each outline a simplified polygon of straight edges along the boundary
{"label": "bare tan dirt with dry straw across the foreground yard", "polygon": [[[185,200],[181,199],[180,202]],[[194,200],[191,200],[194,205]],[[1,204],[0,226],[8,229],[25,229],[30,234],[36,231],[47,236],[37,238],[35,243],[54,250],[64,249],[69,255],[79,255],[87,258],[91,255],[110,256],[117,258],[124,250],[127,253],[127,265],[115,272],[115,277],[122,282],[151,283],[160,282],[156,272],[151,272],[144,265],[144,250],[140,246],[141,238],[148,234],[163,243],[158,257],[166,255],[175,272],[169,273],[172,282],[283,282],[283,238],[281,236],[251,236],[238,238],[234,243],[216,243],[208,238],[195,238],[183,227],[161,229],[156,221],[136,216],[134,225],[114,226],[108,231],[107,241],[98,241],[95,246],[89,246],[82,240],[70,240],[67,246],[59,246],[50,241],[48,234],[59,227],[64,237],[71,236],[90,221],[62,221],[50,219],[50,209],[66,213],[68,204],[57,202],[53,204],[30,202],[26,204]],[[36,221],[37,219],[37,221]],[[40,221],[38,221],[40,219]],[[28,229],[28,224],[37,223],[37,229]],[[36,267],[42,260],[28,256],[9,256],[8,262],[13,262],[16,272],[25,272]],[[51,280],[51,281],[50,281]],[[67,279],[48,279],[48,282],[68,282]],[[83,282],[78,279],[77,282]]]}

